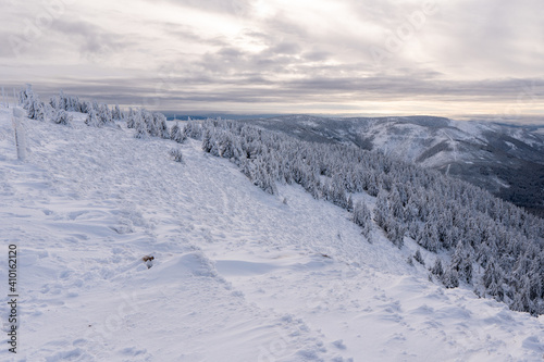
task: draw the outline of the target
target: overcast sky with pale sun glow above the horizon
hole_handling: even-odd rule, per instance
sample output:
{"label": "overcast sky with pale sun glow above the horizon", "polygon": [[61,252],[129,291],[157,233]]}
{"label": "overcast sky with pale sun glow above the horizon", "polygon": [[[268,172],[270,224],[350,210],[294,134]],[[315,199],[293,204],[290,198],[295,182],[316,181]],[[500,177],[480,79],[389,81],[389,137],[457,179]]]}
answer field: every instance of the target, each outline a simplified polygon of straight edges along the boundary
{"label": "overcast sky with pale sun glow above the horizon", "polygon": [[542,0],[0,0],[0,86],[236,113],[544,116]]}

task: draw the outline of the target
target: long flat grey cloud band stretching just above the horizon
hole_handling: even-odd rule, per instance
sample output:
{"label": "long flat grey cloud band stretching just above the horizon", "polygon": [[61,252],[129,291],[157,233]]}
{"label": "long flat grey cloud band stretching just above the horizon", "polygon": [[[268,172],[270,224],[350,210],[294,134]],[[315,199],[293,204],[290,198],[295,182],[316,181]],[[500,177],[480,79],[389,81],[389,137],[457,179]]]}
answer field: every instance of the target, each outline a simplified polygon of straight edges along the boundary
{"label": "long flat grey cloud band stretching just above the horizon", "polygon": [[[418,78],[418,80],[415,80]],[[482,82],[441,82],[433,74],[425,77],[403,75],[396,77],[376,76],[367,78],[305,78],[287,82],[272,82],[248,74],[245,77],[223,79],[218,88],[214,78],[206,76],[173,77],[169,79],[176,88],[165,91],[157,88],[158,78],[97,78],[82,82],[78,78],[63,78],[35,85],[37,92],[50,97],[60,89],[64,92],[79,95],[86,99],[102,102],[159,105],[162,109],[187,109],[191,102],[213,103],[285,103],[298,102],[334,103],[355,99],[366,101],[390,101],[425,99],[450,101],[453,99],[478,103],[483,101],[504,101],[524,95],[526,102],[544,97],[544,78],[502,79]],[[104,85],[108,84],[108,87]],[[18,87],[7,85],[8,89]],[[533,91],[531,93],[531,90]],[[532,97],[532,98],[531,98]]]}

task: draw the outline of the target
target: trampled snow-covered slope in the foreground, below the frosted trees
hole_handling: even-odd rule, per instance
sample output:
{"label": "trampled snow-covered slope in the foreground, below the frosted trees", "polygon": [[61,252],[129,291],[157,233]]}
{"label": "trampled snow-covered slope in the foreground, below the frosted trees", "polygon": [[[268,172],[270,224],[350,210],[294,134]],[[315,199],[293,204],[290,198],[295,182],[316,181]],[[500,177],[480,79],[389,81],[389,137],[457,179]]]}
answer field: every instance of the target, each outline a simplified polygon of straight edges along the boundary
{"label": "trampled snow-covered slope in the foreground, below the frosted trees", "polygon": [[544,358],[542,316],[429,282],[412,242],[369,242],[300,187],[270,196],[197,141],[180,164],[82,115],[24,125],[20,162],[0,109],[0,296],[16,244],[21,316],[15,355],[2,303],[1,361]]}

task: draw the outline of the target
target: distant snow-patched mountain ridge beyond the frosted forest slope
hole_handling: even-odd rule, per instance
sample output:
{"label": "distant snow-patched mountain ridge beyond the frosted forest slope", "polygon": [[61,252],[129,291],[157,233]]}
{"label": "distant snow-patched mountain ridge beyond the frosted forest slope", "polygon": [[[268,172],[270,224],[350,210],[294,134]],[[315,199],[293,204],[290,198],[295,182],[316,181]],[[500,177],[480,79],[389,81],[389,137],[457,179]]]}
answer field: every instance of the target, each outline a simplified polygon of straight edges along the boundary
{"label": "distant snow-patched mountain ridge beyond the frosted forest slope", "polygon": [[539,126],[435,116],[248,120],[299,139],[353,143],[440,170],[544,215],[544,135]]}

